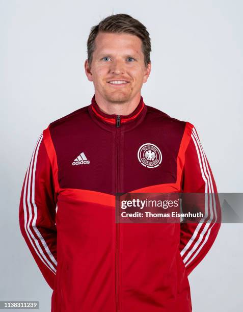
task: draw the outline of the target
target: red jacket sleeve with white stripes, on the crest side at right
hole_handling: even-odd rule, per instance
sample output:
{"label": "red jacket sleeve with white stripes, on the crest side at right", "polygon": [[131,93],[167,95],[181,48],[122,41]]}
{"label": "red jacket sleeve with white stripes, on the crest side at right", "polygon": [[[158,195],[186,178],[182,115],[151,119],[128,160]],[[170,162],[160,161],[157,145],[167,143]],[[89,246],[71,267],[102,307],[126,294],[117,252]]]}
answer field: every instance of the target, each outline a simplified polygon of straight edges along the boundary
{"label": "red jacket sleeve with white stripes, on the crest side at right", "polygon": [[[193,195],[194,211],[196,207],[196,211],[203,213],[201,221],[181,223],[180,228],[179,249],[188,276],[205,257],[218,235],[221,208],[215,180],[198,133],[191,123],[187,122],[187,125],[190,128],[188,132],[190,138],[185,151],[182,192],[204,193],[198,197]],[[185,206],[182,199],[182,211]]]}

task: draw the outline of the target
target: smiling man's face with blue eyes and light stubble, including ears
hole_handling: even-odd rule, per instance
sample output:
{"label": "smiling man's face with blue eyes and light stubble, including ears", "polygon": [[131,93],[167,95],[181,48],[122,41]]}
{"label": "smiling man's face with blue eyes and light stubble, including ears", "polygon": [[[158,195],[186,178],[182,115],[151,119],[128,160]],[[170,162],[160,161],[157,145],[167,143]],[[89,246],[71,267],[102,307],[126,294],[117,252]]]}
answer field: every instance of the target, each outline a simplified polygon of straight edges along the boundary
{"label": "smiling man's face with blue eyes and light stubble, including ears", "polygon": [[[91,67],[86,60],[85,70],[89,81],[94,83],[95,93],[106,101],[123,103],[140,94],[151,64],[145,67],[139,37],[126,33],[98,33]],[[119,83],[122,81],[125,83]]]}

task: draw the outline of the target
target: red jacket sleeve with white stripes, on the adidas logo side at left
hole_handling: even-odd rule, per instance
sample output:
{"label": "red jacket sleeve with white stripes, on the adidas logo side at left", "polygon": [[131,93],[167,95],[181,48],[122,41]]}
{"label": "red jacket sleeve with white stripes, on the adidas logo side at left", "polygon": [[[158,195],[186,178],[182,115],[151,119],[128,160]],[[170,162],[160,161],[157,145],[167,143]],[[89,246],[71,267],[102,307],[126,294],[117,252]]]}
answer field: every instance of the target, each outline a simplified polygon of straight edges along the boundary
{"label": "red jacket sleeve with white stripes, on the adidas logo side at left", "polygon": [[52,289],[57,269],[56,204],[52,168],[42,133],[23,181],[19,225],[26,244]]}

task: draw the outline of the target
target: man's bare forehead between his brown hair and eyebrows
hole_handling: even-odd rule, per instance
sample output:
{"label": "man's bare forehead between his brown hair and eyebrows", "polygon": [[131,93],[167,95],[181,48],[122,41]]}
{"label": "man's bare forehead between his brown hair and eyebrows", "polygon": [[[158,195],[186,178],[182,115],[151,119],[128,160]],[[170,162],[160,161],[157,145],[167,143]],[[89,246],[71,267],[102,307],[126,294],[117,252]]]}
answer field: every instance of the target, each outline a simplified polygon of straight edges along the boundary
{"label": "man's bare forehead between his brown hair and eyebrows", "polygon": [[102,53],[133,53],[143,54],[142,40],[135,35],[121,33],[101,33],[95,38],[95,51]]}

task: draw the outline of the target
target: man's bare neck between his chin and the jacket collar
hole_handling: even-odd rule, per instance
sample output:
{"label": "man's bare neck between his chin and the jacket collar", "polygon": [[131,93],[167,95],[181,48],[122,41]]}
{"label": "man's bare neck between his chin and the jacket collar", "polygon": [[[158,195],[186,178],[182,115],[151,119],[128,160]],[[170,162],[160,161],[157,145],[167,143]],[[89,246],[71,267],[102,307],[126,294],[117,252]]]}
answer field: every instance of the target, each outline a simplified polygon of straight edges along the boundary
{"label": "man's bare neck between his chin and the jacket collar", "polygon": [[99,106],[100,110],[109,115],[129,115],[139,105],[141,98],[140,92],[136,94],[132,99],[125,102],[110,102],[103,98],[99,93],[95,93],[95,101]]}

